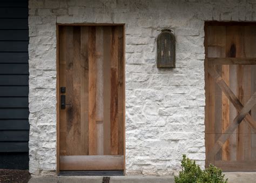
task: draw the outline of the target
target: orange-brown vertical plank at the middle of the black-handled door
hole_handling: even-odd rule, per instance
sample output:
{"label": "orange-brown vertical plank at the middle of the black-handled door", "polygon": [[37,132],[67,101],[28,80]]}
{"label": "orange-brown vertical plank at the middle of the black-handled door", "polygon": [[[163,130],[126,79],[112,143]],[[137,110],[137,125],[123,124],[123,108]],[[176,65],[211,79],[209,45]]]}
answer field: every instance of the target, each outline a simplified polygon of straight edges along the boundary
{"label": "orange-brown vertical plank at the middle of the black-handled door", "polygon": [[96,28],[89,27],[89,155],[97,154],[96,131]]}

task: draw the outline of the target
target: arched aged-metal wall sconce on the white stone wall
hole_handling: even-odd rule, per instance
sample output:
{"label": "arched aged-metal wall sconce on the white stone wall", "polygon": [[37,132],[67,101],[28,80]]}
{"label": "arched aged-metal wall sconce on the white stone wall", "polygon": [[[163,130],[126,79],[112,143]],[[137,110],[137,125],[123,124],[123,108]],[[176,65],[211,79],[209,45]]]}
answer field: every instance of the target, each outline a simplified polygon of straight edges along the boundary
{"label": "arched aged-metal wall sconce on the white stone wall", "polygon": [[170,29],[163,29],[157,37],[157,67],[175,68],[175,37]]}

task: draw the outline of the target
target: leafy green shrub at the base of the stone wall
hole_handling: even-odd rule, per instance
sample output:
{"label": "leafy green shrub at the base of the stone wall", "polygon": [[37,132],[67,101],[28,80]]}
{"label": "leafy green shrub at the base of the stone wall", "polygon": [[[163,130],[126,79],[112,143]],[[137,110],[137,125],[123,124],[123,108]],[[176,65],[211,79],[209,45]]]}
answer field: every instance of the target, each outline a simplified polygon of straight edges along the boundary
{"label": "leafy green shrub at the base of the stone wall", "polygon": [[211,183],[224,183],[227,179],[224,179],[224,174],[221,170],[213,165],[210,165],[205,170],[201,170],[199,165],[195,161],[186,158],[183,155],[181,161],[182,170],[179,172],[178,177],[174,177],[176,183],[192,183],[192,182],[211,182]]}

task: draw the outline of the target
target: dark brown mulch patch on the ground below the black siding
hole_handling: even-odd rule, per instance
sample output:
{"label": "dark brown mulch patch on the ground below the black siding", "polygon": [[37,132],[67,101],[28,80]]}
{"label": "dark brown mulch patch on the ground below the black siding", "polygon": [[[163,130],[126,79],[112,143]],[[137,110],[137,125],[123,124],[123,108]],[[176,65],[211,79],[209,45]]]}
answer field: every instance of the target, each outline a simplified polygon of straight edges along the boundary
{"label": "dark brown mulch patch on the ground below the black siding", "polygon": [[0,182],[22,182],[27,183],[31,178],[28,170],[6,170],[0,169]]}

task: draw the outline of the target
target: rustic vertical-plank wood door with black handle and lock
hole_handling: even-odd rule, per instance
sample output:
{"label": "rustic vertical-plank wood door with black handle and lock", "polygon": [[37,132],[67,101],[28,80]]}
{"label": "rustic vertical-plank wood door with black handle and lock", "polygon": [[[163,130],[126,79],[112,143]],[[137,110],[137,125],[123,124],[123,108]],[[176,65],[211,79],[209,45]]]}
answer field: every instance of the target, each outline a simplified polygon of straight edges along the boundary
{"label": "rustic vertical-plank wood door with black handle and lock", "polygon": [[124,169],[124,27],[59,26],[59,170]]}

